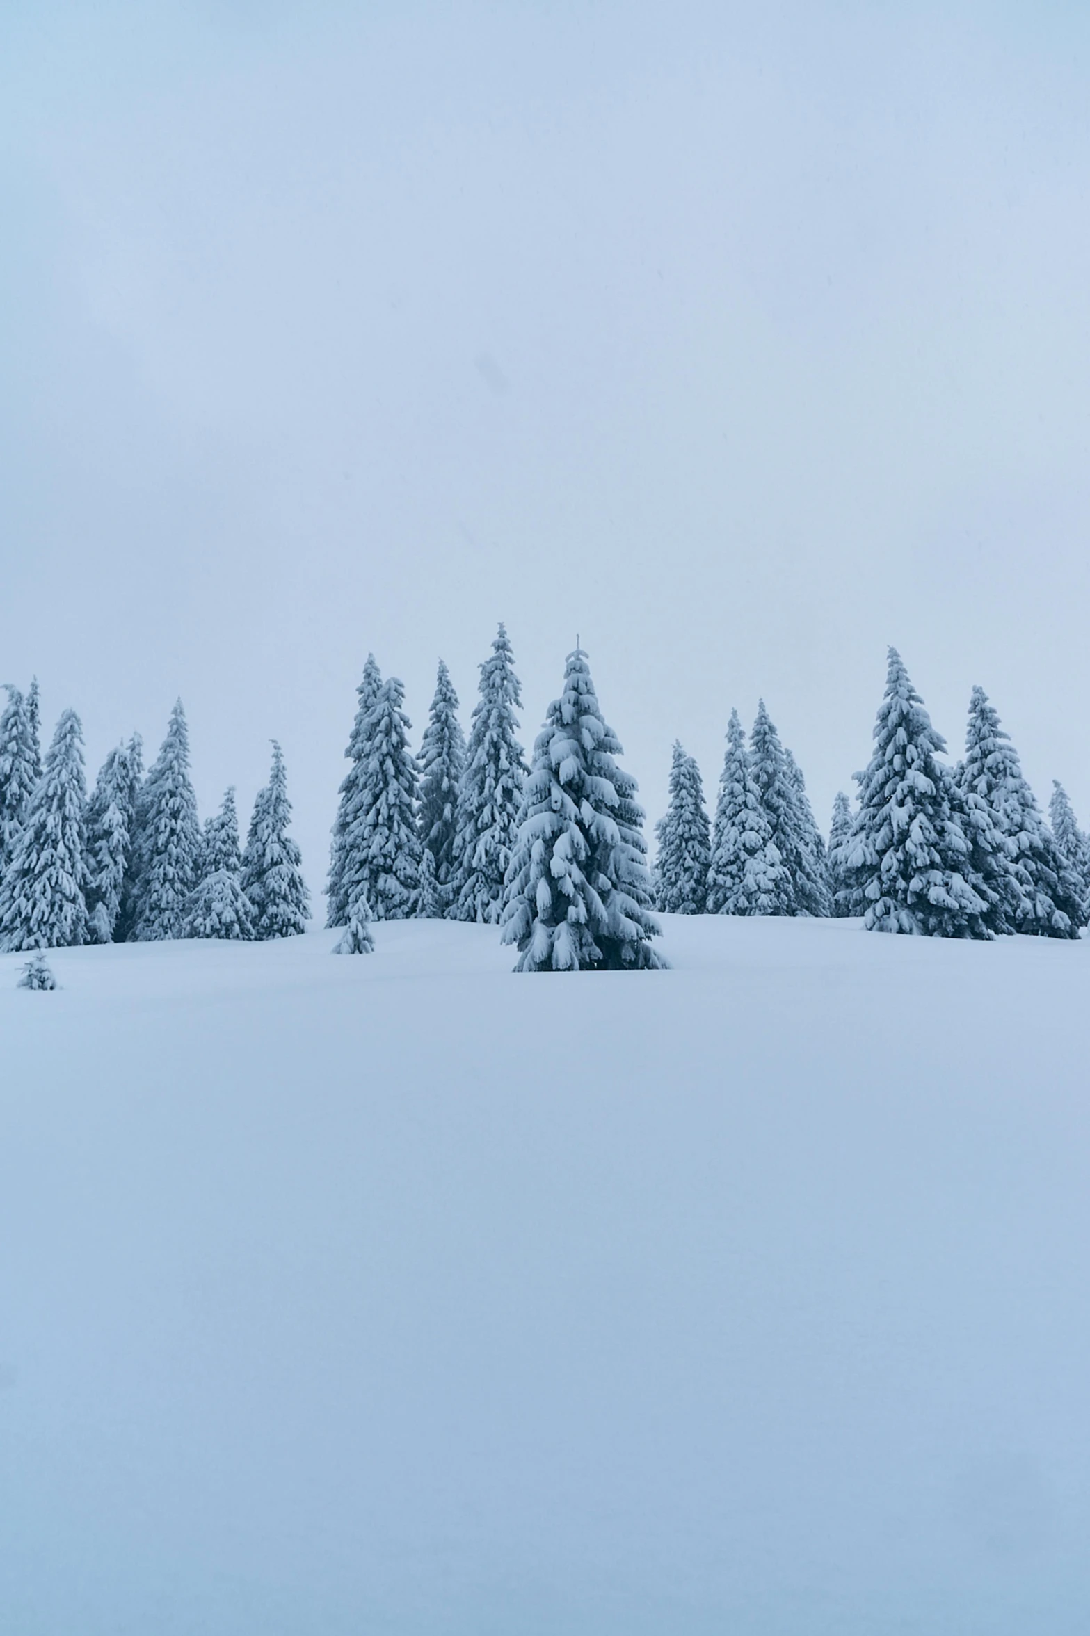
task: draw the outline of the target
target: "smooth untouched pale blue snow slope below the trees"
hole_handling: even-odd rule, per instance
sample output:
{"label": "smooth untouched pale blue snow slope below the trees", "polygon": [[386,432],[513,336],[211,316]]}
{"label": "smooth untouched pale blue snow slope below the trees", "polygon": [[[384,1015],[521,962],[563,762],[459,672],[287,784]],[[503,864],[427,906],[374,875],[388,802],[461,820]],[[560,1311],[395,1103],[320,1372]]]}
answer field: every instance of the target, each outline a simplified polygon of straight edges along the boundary
{"label": "smooth untouched pale blue snow slope below the trees", "polygon": [[1090,946],[0,959],[5,1636],[1085,1636]]}

